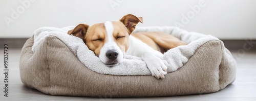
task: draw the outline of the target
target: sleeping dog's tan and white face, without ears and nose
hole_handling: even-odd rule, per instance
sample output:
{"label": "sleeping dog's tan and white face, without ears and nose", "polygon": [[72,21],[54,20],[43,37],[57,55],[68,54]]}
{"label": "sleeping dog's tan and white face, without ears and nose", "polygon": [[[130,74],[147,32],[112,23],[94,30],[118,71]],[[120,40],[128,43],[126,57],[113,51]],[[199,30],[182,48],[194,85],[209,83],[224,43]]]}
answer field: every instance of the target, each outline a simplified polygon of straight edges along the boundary
{"label": "sleeping dog's tan and white face, without ears and nose", "polygon": [[[119,21],[106,21],[88,28],[85,43],[88,48],[99,56],[101,62],[114,66],[123,60],[124,53],[129,47],[129,33]],[[114,50],[118,53],[115,60],[106,57],[106,52]]]}

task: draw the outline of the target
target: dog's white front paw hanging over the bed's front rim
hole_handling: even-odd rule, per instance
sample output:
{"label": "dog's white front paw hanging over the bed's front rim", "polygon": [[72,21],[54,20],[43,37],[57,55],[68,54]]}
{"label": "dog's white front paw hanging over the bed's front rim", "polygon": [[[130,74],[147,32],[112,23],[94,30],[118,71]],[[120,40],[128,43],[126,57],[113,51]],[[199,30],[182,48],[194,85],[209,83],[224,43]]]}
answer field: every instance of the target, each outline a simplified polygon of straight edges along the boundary
{"label": "dog's white front paw hanging over the bed's front rim", "polygon": [[146,62],[147,68],[150,70],[152,76],[157,79],[163,79],[167,74],[167,66],[159,57],[150,54],[147,55],[143,60]]}

